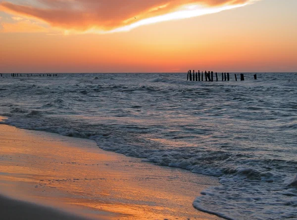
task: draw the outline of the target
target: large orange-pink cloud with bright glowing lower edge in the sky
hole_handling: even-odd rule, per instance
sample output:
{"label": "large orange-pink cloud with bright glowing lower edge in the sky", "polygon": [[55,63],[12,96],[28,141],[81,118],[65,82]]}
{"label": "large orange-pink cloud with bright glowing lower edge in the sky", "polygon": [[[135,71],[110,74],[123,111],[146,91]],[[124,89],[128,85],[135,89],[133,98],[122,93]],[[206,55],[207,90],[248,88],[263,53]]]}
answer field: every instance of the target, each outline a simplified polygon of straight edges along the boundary
{"label": "large orange-pink cloud with bright glowing lower edge in the sky", "polygon": [[216,13],[254,0],[37,0],[33,5],[8,1],[0,10],[35,18],[76,32],[118,32],[161,21]]}

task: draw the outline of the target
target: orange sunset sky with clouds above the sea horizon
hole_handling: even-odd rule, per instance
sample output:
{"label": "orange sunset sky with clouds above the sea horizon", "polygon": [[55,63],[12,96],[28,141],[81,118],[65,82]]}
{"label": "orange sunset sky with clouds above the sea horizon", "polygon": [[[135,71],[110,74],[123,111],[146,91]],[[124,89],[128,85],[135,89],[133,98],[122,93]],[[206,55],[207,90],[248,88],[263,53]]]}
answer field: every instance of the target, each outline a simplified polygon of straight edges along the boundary
{"label": "orange sunset sky with clouds above the sea horizon", "polygon": [[297,72],[296,9],[297,0],[0,0],[0,72]]}

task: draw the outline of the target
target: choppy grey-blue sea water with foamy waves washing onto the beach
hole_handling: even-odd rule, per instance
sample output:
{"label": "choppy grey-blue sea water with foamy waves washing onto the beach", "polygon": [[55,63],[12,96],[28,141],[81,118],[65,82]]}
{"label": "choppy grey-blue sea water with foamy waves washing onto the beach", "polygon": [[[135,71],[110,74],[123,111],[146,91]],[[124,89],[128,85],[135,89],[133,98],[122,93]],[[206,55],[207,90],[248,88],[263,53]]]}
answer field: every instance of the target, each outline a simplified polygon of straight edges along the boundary
{"label": "choppy grey-blue sea water with foamy waves washing onto the beach", "polygon": [[[2,124],[94,139],[102,149],[218,176],[198,210],[297,219],[297,74],[190,82],[187,74],[0,78]],[[220,78],[220,77],[219,77]],[[240,78],[238,76],[238,78]]]}

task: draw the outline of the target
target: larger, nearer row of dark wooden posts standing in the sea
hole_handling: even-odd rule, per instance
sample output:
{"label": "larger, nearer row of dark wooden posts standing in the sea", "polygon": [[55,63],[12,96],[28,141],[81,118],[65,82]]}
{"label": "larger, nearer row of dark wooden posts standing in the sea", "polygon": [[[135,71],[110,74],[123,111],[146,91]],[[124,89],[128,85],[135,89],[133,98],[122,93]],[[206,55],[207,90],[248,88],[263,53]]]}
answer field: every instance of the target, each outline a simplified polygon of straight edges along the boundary
{"label": "larger, nearer row of dark wooden posts standing in the sea", "polygon": [[[235,80],[237,81],[237,76],[235,75]],[[196,79],[195,79],[196,76]],[[254,79],[257,79],[257,74],[254,74]],[[218,81],[218,73],[215,73],[216,81]],[[198,73],[195,70],[193,70],[193,78],[192,78],[192,70],[188,71],[187,81],[200,81],[200,70],[198,70]],[[193,79],[193,80],[192,80]],[[230,81],[230,74],[229,73],[222,73],[222,81]],[[243,73],[240,74],[240,80],[245,81],[245,75]],[[203,81],[203,71],[201,71],[201,81]],[[205,81],[213,82],[213,71],[208,71],[208,73],[205,71]]]}

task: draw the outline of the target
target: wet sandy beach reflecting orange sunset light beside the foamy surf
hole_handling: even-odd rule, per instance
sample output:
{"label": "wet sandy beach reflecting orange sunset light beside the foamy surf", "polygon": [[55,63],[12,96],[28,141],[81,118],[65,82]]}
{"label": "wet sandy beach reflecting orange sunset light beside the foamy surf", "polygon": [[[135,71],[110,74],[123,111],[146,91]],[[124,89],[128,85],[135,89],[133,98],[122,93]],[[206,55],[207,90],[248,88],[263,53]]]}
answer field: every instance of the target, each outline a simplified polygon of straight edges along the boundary
{"label": "wet sandy beach reflecting orange sunset light beside the foamy surf", "polygon": [[200,191],[218,185],[215,177],[103,151],[88,139],[6,125],[0,149],[0,193],[30,201],[1,196],[2,220],[220,219],[192,206]]}

